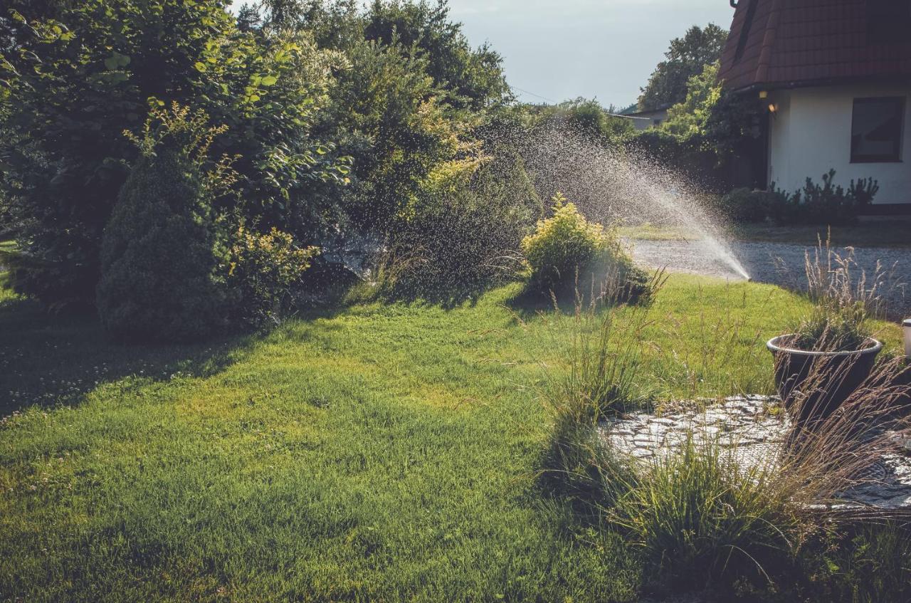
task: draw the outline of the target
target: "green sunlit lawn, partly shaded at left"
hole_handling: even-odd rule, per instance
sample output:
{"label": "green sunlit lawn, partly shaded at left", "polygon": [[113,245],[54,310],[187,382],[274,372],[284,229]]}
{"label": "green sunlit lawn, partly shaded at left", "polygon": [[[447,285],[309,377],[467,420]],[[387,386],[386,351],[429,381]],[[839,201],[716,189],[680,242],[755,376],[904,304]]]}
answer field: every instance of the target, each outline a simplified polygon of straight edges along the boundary
{"label": "green sunlit lawn, partly shaded at left", "polygon": [[[0,599],[638,600],[635,551],[537,485],[536,383],[573,317],[518,291],[192,347],[109,343],[0,291]],[[763,342],[807,307],[674,275],[650,380],[769,392]]]}

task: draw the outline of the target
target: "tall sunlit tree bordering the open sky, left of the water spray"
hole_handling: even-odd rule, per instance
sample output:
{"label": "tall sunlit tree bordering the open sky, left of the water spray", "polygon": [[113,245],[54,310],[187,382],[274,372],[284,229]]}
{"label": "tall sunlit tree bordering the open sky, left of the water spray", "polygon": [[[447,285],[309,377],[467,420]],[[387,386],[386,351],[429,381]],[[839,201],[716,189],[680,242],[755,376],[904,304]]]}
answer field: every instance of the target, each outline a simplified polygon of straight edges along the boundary
{"label": "tall sunlit tree bordering the open sky, left of the water spray", "polygon": [[339,230],[393,234],[423,202],[428,178],[476,156],[474,130],[510,97],[500,57],[471,48],[445,2],[269,5],[273,19],[277,7],[285,15],[282,26],[344,56],[319,127],[354,163]]}

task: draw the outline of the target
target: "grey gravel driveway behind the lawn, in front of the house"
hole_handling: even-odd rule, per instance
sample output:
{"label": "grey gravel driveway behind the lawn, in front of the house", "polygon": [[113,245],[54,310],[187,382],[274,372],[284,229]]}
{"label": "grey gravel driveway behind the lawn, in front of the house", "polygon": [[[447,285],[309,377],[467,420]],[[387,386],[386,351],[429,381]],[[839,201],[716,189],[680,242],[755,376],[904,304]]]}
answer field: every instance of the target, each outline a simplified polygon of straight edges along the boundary
{"label": "grey gravel driveway behind the lawn, in front of the house", "polygon": [[[742,277],[719,259],[701,240],[636,240],[633,257],[640,264],[669,271],[709,274],[740,281]],[[801,288],[804,277],[804,251],[814,247],[792,243],[732,242],[730,249],[753,281],[771,282],[788,288]],[[835,251],[844,255],[844,249]],[[888,274],[884,296],[890,314],[911,314],[911,250],[889,247],[855,248],[857,268],[871,275],[879,261]],[[857,272],[860,273],[859,271]],[[909,286],[906,287],[906,284]],[[907,292],[906,292],[907,289]]]}

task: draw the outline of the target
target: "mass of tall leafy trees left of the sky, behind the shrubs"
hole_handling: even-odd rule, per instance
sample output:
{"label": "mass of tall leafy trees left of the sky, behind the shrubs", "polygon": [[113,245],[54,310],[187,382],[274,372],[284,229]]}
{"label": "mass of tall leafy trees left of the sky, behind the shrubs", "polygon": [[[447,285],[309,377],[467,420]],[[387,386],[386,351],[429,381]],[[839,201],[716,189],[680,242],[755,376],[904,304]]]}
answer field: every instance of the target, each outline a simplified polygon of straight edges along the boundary
{"label": "mass of tall leafy trees left of the sky, behind the shrubs", "polygon": [[212,152],[234,159],[237,194],[215,210],[327,246],[427,215],[435,179],[476,169],[476,130],[510,98],[500,57],[443,2],[271,0],[237,19],[221,0],[13,8],[0,197],[24,225],[17,289],[56,307],[95,300],[101,233],[138,159],[120,133],[148,107],[228,127]]}

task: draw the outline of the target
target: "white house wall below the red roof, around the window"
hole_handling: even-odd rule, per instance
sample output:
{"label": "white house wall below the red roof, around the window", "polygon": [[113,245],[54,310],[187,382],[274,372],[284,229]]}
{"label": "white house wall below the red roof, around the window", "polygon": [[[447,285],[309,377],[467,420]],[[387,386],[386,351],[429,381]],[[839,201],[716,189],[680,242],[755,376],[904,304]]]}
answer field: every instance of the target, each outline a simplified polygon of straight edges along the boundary
{"label": "white house wall below the red roof, around the window", "polygon": [[[851,163],[851,116],[854,99],[905,97],[902,161]],[[768,102],[778,105],[770,119],[769,181],[780,189],[802,189],[809,176],[822,182],[834,168],[835,184],[874,178],[879,192],[873,202],[911,203],[911,86],[813,87],[777,90]]]}

